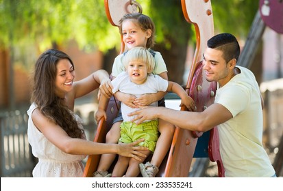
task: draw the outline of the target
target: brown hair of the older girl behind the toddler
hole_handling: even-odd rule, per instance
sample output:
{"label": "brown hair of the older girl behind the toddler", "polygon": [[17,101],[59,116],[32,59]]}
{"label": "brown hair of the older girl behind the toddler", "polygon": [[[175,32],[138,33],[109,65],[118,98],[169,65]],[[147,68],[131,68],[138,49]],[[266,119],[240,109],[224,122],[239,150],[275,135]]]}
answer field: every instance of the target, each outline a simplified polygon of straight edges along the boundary
{"label": "brown hair of the older girl behind the toddler", "polygon": [[156,27],[149,16],[141,13],[131,13],[125,14],[119,20],[119,31],[122,34],[122,24],[124,20],[131,19],[134,23],[138,24],[140,29],[143,31],[147,31],[147,29],[151,29],[151,37],[147,40],[146,48],[152,48],[155,44],[155,34],[156,34]]}

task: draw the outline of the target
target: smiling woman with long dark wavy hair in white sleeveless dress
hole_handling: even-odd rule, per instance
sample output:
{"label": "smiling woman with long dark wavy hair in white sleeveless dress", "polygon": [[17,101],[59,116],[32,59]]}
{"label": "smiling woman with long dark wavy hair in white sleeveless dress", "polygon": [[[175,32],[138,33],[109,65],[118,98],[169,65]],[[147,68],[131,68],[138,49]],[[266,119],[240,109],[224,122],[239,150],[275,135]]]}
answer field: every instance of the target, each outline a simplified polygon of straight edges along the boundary
{"label": "smiling woman with long dark wavy hair in white sleeveless dress", "polygon": [[[82,119],[74,115],[75,98],[90,93],[99,83],[110,83],[105,70],[74,81],[71,58],[60,50],[47,50],[36,61],[29,107],[27,136],[33,155],[38,158],[34,177],[82,177],[86,155],[118,153],[137,160],[145,155],[135,144],[117,145],[86,141]],[[105,89],[101,89],[105,93]],[[136,141],[136,144],[140,141]]]}

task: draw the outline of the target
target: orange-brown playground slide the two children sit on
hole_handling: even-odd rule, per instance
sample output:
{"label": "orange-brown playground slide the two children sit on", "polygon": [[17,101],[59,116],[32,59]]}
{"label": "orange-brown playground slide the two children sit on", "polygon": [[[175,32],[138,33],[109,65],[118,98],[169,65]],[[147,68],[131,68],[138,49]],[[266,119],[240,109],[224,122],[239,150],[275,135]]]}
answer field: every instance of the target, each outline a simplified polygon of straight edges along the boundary
{"label": "orange-brown playground slide the two children sit on", "polygon": [[[197,111],[204,111],[214,102],[217,89],[216,83],[209,83],[202,71],[201,55],[206,48],[206,42],[214,35],[212,7],[209,0],[182,0],[182,11],[188,23],[195,27],[197,46],[190,74],[186,83],[186,92],[195,100]],[[141,6],[131,0],[105,0],[106,15],[113,26],[118,26],[120,18],[130,12],[142,12]],[[123,38],[121,36],[121,38]],[[121,40],[121,53],[125,46]],[[186,111],[185,107],[181,108]],[[95,142],[105,143],[105,137],[112,126],[112,120],[119,111],[114,97],[108,103],[108,121],[103,119],[97,126]],[[197,148],[197,149],[196,149]],[[217,162],[219,177],[224,176],[224,167],[219,153],[219,136],[217,127],[209,132],[191,132],[176,126],[171,148],[160,165],[156,177],[188,177],[190,165],[194,157],[208,157]],[[89,156],[86,162],[84,177],[92,177],[99,164],[100,155]],[[147,159],[149,160],[149,158]],[[110,168],[111,171],[111,168]]]}

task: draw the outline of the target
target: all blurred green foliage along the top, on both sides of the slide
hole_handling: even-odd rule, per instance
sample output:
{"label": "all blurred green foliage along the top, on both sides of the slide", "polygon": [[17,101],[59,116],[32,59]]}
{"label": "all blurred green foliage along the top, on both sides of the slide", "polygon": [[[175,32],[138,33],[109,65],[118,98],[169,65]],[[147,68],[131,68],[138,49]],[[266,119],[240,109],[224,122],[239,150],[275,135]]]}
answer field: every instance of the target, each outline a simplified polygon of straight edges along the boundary
{"label": "all blurred green foliage along the top, on both sides of the slide", "polygon": [[[118,0],[117,0],[118,1]],[[195,40],[193,25],[186,23],[179,0],[136,0],[143,13],[156,23],[157,42],[170,48],[171,40],[182,44],[186,35]],[[258,10],[258,1],[212,0],[215,33],[246,36]],[[40,50],[52,43],[76,40],[81,48],[106,51],[119,46],[118,29],[108,22],[103,0],[0,0],[0,46],[20,42],[39,44]],[[188,30],[180,30],[184,25]]]}

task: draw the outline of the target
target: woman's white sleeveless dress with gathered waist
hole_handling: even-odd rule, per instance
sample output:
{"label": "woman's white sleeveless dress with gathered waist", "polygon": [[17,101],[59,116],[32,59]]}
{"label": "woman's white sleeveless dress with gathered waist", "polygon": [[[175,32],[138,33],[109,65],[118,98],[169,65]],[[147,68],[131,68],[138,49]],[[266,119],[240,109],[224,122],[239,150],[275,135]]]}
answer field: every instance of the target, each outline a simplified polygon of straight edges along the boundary
{"label": "woman's white sleeveless dress with gathered waist", "polygon": [[[86,156],[64,153],[50,143],[34,126],[32,113],[36,108],[36,104],[33,103],[27,111],[27,115],[29,115],[27,137],[32,146],[32,154],[38,158],[38,164],[32,171],[33,177],[82,177],[84,173],[82,160]],[[83,128],[82,119],[77,115],[75,115],[75,119],[79,123],[79,127]]]}

